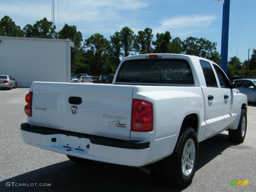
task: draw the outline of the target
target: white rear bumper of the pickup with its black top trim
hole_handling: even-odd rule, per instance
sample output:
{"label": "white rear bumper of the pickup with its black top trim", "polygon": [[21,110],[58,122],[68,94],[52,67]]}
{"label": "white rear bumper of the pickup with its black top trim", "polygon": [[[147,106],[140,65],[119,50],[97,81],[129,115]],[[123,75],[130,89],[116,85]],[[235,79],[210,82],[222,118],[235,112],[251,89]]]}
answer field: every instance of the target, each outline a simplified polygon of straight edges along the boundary
{"label": "white rear bumper of the pickup with its black top trim", "polygon": [[129,166],[143,166],[150,151],[149,141],[124,141],[108,137],[20,125],[23,141],[50,151]]}

